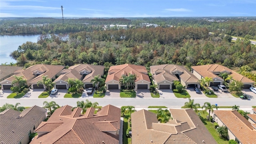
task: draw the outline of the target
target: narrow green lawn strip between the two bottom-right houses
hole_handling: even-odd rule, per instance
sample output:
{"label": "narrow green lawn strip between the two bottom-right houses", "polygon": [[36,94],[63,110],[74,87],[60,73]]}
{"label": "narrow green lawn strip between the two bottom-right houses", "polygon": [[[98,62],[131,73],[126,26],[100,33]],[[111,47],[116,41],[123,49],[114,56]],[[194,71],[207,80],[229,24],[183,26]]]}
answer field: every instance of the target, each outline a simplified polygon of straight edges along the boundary
{"label": "narrow green lawn strip between the two bottom-right houses", "polygon": [[228,144],[228,140],[226,138],[220,137],[219,134],[216,132],[214,128],[214,124],[212,122],[209,122],[206,119],[208,112],[205,112],[205,111],[203,112],[202,110],[199,110],[199,113],[201,114],[201,115],[198,115],[199,118],[202,120],[202,122],[204,123],[204,126],[208,129],[210,134],[212,134],[212,137],[216,140],[216,142],[218,144]]}

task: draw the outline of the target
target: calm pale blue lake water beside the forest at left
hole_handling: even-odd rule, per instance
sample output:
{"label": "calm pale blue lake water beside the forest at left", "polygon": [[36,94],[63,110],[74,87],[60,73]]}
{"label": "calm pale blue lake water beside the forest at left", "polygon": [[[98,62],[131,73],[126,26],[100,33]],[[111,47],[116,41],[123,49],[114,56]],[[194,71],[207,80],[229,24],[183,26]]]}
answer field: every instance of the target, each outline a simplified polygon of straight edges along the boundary
{"label": "calm pale blue lake water beside the forest at left", "polygon": [[37,42],[37,38],[40,35],[0,35],[0,64],[4,64],[7,62],[16,63],[16,60],[12,59],[9,55],[14,50],[17,50],[19,46],[23,43],[29,42]]}

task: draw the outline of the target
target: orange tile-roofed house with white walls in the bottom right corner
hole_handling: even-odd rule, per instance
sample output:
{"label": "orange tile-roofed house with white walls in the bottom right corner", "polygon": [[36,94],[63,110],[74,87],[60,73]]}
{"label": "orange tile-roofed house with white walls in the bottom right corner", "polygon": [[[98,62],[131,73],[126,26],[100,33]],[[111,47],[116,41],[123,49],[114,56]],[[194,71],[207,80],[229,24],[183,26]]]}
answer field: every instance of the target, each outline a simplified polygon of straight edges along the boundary
{"label": "orange tile-roofed house with white walls in the bottom right corner", "polygon": [[236,110],[214,110],[214,120],[228,128],[228,139],[238,144],[256,144],[256,125],[251,124]]}

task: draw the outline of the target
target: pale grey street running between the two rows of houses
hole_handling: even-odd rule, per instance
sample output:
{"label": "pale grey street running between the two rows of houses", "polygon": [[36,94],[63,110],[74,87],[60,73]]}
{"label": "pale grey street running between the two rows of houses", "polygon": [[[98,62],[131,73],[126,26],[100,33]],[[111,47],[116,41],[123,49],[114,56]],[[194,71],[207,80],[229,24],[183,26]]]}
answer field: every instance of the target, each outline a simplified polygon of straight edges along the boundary
{"label": "pale grey street running between the two rows of houses", "polygon": [[[188,101],[187,98],[1,98],[0,106],[5,103],[16,104],[20,102],[21,106],[43,106],[44,101],[55,101],[60,106],[70,105],[76,106],[77,101],[90,100],[91,102],[98,102],[99,106],[106,106],[108,104],[120,106],[135,106],[135,107],[148,107],[148,106],[167,106],[168,108],[180,108]],[[251,100],[242,100],[240,98],[194,98],[195,103],[203,105],[204,102],[211,104],[218,104],[218,106],[234,106],[235,104],[240,107],[256,106],[256,98]]]}

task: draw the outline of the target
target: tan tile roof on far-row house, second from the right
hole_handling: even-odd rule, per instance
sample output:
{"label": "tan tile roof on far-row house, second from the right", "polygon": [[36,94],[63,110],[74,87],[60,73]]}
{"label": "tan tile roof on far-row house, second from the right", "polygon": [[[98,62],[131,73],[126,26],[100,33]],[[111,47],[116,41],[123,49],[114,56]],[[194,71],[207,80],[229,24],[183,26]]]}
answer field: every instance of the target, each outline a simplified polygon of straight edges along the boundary
{"label": "tan tile roof on far-row house, second from the right", "polygon": [[189,70],[187,70],[184,66],[178,66],[175,64],[163,64],[158,66],[150,66],[150,71],[153,72],[154,79],[156,82],[161,82],[163,80],[168,80],[170,82],[174,80],[179,80],[175,76],[175,72],[182,72],[180,74],[180,78],[184,82],[198,82],[198,78],[194,76]]}

